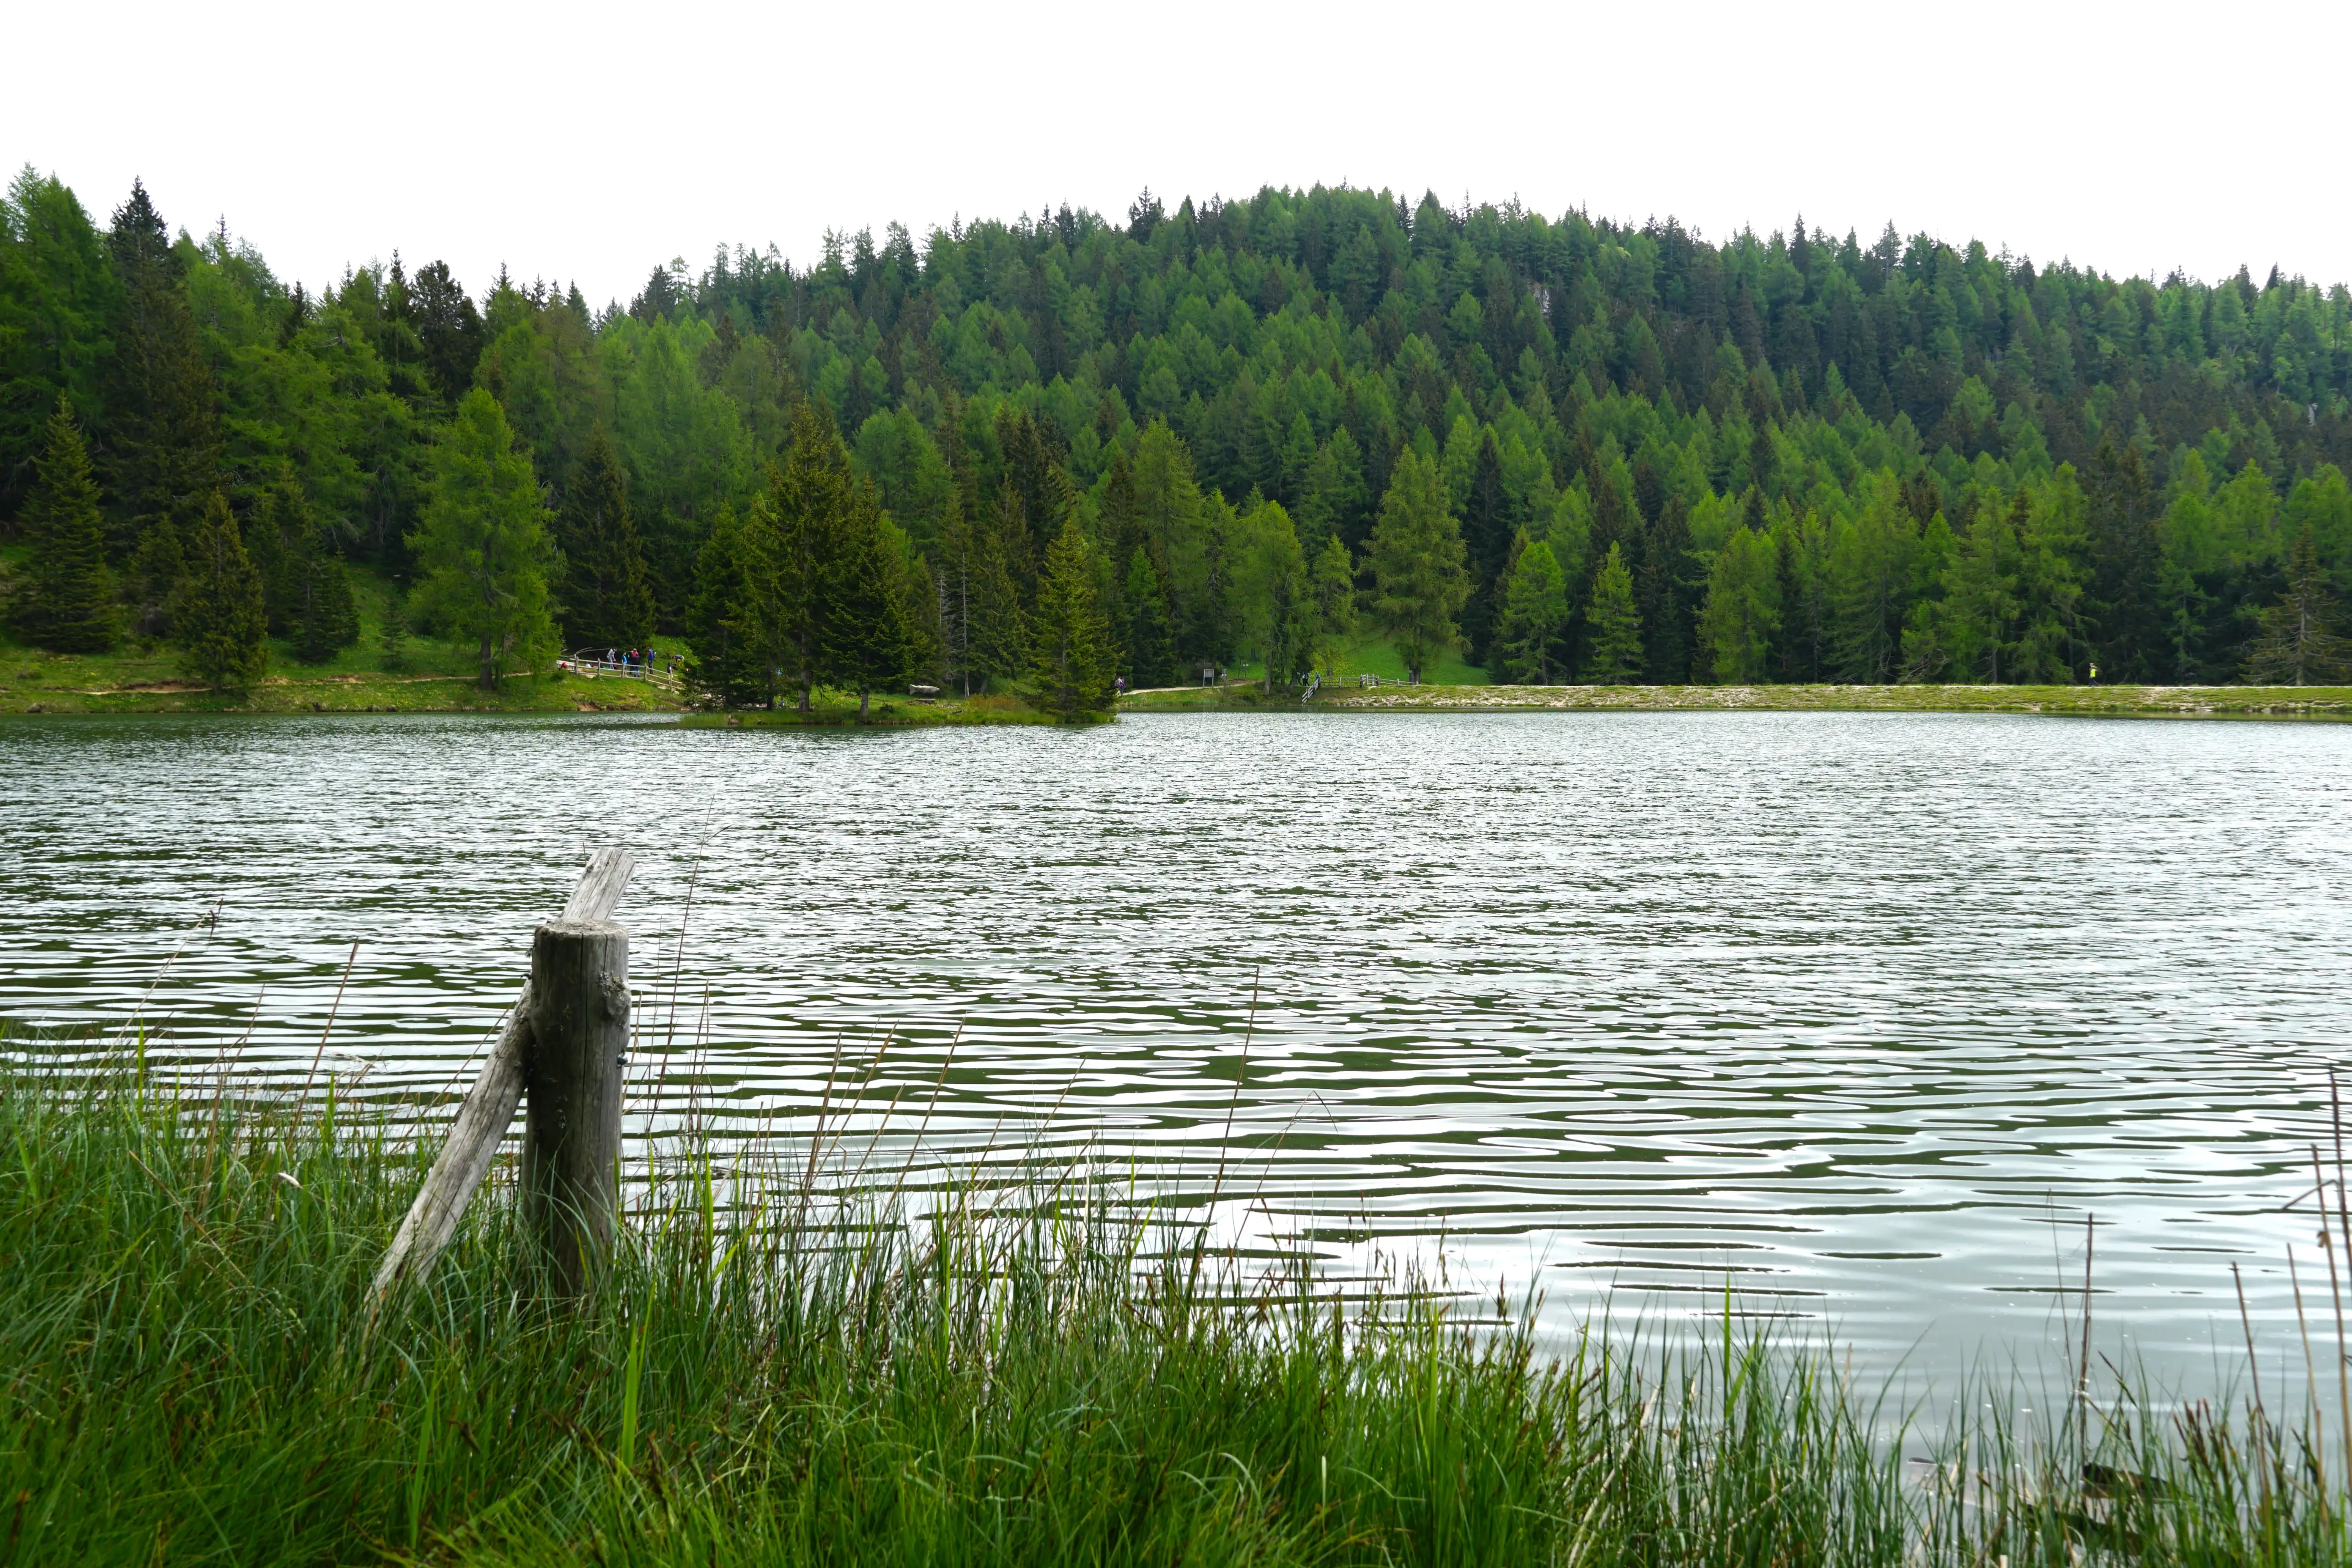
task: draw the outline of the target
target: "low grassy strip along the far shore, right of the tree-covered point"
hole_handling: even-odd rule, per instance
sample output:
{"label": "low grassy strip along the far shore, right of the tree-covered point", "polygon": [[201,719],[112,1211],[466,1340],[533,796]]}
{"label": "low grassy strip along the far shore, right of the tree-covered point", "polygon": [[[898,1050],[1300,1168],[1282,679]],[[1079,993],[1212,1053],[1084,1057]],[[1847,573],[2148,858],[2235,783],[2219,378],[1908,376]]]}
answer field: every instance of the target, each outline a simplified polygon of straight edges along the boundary
{"label": "low grassy strip along the far shore, right of the tree-covered point", "polygon": [[1129,712],[1345,708],[1364,712],[2053,712],[2352,719],[2352,686],[1327,686],[1312,703],[1258,686],[1138,691]]}

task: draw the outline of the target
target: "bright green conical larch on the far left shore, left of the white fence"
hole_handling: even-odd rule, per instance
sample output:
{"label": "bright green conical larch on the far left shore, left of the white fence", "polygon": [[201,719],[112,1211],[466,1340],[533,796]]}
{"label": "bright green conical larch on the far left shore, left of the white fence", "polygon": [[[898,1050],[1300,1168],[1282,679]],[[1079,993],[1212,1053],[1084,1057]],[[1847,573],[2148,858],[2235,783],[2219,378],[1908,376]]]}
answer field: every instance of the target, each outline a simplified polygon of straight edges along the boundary
{"label": "bright green conical larch on the far left shore, left of the white fence", "polygon": [[475,388],[433,447],[416,552],[416,607],[459,642],[475,644],[485,691],[501,665],[536,665],[555,651],[548,614],[548,508],[529,454],[515,447],[499,400]]}

